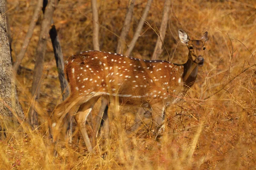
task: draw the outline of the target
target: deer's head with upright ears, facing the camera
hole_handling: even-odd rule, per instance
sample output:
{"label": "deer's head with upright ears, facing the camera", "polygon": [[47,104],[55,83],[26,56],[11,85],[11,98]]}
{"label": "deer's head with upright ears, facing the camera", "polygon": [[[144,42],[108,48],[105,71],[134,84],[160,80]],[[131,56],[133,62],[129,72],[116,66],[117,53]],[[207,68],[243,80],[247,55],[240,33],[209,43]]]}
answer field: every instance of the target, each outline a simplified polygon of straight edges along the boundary
{"label": "deer's head with upright ears, facing the camera", "polygon": [[189,60],[192,60],[193,62],[197,63],[198,66],[204,65],[204,51],[205,51],[205,42],[207,41],[207,34],[208,32],[205,32],[201,40],[190,40],[189,36],[185,31],[182,29],[179,29],[179,37],[181,43],[184,43],[187,45],[189,49]]}

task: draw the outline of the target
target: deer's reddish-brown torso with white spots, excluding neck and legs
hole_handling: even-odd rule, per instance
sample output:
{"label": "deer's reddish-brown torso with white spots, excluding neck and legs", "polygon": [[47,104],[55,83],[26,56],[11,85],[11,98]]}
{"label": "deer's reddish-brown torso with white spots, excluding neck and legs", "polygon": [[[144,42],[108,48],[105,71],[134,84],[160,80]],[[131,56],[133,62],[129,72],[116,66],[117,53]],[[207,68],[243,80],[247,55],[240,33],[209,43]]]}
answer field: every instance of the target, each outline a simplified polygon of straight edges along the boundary
{"label": "deer's reddish-brown torso with white spots, excluding neck and legs", "polygon": [[68,58],[65,73],[74,95],[108,95],[120,104],[173,100],[183,89],[183,66],[107,52],[81,52]]}

